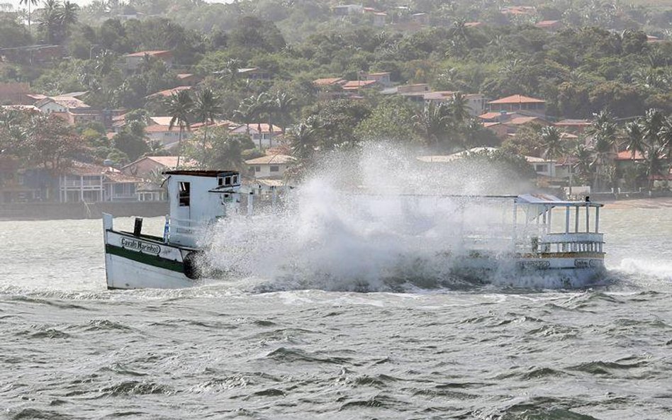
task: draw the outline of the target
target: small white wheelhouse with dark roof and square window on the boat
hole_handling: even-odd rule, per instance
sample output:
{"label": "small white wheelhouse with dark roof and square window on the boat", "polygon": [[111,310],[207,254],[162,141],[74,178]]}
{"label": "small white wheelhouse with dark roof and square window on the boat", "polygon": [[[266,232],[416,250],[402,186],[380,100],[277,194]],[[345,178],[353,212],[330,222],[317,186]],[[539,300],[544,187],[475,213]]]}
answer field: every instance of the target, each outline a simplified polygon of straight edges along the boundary
{"label": "small white wheelhouse with dark roof and square window on the boat", "polygon": [[237,171],[166,171],[169,217],[164,240],[196,246],[198,233],[237,203],[240,174]]}

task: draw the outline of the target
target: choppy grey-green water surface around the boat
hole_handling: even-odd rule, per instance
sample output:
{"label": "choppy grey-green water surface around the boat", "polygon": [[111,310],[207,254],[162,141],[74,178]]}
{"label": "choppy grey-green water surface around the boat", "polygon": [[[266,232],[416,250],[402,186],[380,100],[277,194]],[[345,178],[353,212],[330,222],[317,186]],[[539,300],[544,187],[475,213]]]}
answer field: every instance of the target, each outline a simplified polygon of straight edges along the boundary
{"label": "choppy grey-green water surface around the boat", "polygon": [[408,293],[108,292],[99,221],[0,222],[0,418],[672,419],[670,212],[605,286]]}

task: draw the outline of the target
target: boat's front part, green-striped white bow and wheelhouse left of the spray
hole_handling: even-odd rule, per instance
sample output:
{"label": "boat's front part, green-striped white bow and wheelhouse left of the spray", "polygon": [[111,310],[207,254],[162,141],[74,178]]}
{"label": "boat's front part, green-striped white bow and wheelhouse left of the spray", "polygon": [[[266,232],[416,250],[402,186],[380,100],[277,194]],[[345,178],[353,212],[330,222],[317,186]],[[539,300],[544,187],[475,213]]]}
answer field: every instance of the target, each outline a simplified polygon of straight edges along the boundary
{"label": "boat's front part, green-striped white bow and wheelhouse left of the spray", "polygon": [[[103,214],[107,288],[186,288],[202,276],[198,261],[203,232],[237,210],[237,171],[166,171],[169,215],[162,236],[114,229],[113,216]],[[247,199],[252,206],[252,197]]]}

